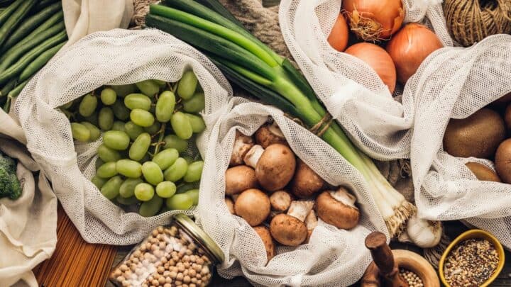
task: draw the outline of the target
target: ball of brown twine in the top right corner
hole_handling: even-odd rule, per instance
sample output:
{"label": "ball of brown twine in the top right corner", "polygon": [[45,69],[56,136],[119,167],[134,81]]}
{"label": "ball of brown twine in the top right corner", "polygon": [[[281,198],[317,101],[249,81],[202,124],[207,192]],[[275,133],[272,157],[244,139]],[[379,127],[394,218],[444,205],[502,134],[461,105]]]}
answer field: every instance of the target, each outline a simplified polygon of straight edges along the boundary
{"label": "ball of brown twine in the top right corner", "polygon": [[465,47],[511,33],[511,0],[445,0],[444,14],[454,40]]}

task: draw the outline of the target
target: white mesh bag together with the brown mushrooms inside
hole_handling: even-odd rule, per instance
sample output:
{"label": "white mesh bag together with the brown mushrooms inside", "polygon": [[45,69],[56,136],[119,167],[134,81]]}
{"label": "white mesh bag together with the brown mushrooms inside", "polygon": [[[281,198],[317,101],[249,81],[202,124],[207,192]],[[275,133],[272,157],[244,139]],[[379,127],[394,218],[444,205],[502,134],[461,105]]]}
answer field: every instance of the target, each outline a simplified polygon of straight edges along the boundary
{"label": "white mesh bag together with the brown mushrooms inside", "polygon": [[[243,275],[262,286],[355,283],[371,261],[364,247],[366,235],[374,230],[388,233],[361,175],[326,142],[277,108],[240,98],[233,98],[232,104],[231,111],[221,116],[211,131],[199,194],[199,223],[226,254],[226,261],[218,267],[219,274]],[[265,124],[268,116],[273,118],[273,125]],[[275,125],[280,132],[275,132]],[[281,135],[277,143],[272,139],[274,135]],[[267,141],[273,145],[267,146]],[[260,147],[255,148],[256,144]],[[296,171],[289,171],[286,163],[295,155]],[[235,166],[229,168],[232,164]],[[255,171],[243,164],[255,166]],[[301,199],[317,190],[318,185],[323,186],[321,179],[326,181],[322,191],[327,192],[314,194],[316,206]],[[295,186],[304,186],[303,182],[296,182],[300,180],[312,182],[297,191]],[[290,205],[289,193],[295,198]],[[226,195],[232,195],[234,206],[231,200],[224,199]],[[358,213],[348,208],[355,200],[353,196]],[[336,213],[334,205],[341,203],[346,213]],[[310,210],[315,210],[319,218],[305,243],[314,221]],[[267,216],[269,219],[265,220]],[[267,254],[265,244],[271,244],[271,237],[275,238],[276,248]],[[268,261],[267,256],[273,255]]]}

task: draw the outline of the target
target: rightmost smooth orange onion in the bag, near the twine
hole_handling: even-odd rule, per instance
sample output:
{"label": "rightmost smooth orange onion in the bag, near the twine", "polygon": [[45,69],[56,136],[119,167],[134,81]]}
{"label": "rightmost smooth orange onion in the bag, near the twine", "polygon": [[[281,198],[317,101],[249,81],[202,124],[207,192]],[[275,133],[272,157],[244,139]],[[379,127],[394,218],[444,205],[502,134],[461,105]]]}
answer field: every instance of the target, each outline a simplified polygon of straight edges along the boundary
{"label": "rightmost smooth orange onion in the bag, near the twine", "polygon": [[405,84],[427,56],[441,47],[444,45],[432,30],[417,23],[407,24],[387,45],[387,52],[396,67],[397,80]]}

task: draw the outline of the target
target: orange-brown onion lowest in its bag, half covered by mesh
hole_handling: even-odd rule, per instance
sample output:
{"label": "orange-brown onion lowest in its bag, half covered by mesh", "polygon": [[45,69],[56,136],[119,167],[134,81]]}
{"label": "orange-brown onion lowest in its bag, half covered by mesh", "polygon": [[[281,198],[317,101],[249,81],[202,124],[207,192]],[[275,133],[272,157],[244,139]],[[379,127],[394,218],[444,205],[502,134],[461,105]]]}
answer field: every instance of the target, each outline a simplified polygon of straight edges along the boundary
{"label": "orange-brown onion lowest in its bag, half covered by mesh", "polygon": [[358,59],[366,62],[369,67],[373,68],[388,86],[390,94],[394,92],[396,83],[396,70],[392,58],[382,47],[371,43],[358,43],[346,49],[347,54],[358,57]]}

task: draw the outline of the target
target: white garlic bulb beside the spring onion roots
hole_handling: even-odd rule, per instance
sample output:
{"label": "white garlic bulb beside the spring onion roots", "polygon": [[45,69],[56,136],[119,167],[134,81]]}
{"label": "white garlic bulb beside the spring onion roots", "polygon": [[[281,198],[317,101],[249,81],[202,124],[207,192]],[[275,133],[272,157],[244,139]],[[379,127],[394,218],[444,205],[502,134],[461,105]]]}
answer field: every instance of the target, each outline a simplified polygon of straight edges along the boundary
{"label": "white garlic bulb beside the spring onion roots", "polygon": [[442,225],[439,221],[429,221],[412,216],[407,223],[406,232],[402,232],[399,241],[414,243],[421,248],[431,248],[439,244],[442,235]]}

